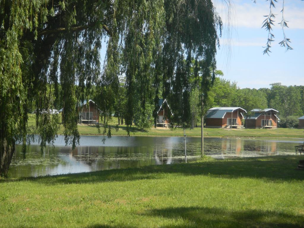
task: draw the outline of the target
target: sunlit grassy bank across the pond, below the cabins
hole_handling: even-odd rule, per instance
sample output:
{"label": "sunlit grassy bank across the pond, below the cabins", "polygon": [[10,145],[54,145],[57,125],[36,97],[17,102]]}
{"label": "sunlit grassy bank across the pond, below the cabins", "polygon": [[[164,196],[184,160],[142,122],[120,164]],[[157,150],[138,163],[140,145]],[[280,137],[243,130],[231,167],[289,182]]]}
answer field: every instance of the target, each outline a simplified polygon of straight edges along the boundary
{"label": "sunlit grassy bank across the pond, below the cabins", "polygon": [[[127,135],[126,126],[120,125],[119,130],[115,131],[114,127],[118,123],[117,118],[112,119],[112,135]],[[29,115],[29,126],[35,125],[34,115]],[[98,131],[95,125],[79,125],[78,130],[83,135],[97,135]],[[63,127],[58,132],[63,133]],[[151,128],[148,130],[140,130],[135,126],[131,129],[131,135],[144,135],[144,136],[183,136],[184,131],[181,128],[169,130],[166,128]],[[195,127],[194,129],[188,128],[186,130],[187,136],[201,136],[201,128]],[[204,128],[204,136],[210,137],[292,137],[303,138],[304,129],[222,129],[222,128]]]}

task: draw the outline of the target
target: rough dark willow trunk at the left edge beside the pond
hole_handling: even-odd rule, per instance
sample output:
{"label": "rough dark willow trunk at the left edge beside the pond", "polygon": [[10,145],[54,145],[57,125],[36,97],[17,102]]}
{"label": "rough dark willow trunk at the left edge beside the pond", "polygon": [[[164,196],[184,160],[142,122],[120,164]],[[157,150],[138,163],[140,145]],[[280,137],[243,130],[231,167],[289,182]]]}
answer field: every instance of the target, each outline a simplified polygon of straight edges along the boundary
{"label": "rough dark willow trunk at the left edge beside the pond", "polygon": [[14,151],[15,141],[10,144],[6,139],[0,139],[0,176],[7,176]]}

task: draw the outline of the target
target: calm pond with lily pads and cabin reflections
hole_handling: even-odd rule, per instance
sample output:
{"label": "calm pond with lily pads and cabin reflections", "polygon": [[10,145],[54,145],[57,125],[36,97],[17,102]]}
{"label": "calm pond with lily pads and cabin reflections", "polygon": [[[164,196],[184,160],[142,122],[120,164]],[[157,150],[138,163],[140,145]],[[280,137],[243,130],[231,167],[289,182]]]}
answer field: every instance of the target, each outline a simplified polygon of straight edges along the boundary
{"label": "calm pond with lily pads and cabin reflections", "polygon": [[[64,137],[58,136],[54,147],[46,147],[43,154],[38,141],[34,141],[25,159],[21,145],[16,145],[9,176],[30,177],[185,162],[183,137],[112,136],[105,140],[105,144],[102,139],[103,136],[81,136],[80,145],[72,150],[65,146]],[[200,140],[199,137],[186,138],[188,161],[199,159]],[[294,146],[303,141],[204,138],[204,152],[219,159],[288,155],[295,154]]]}

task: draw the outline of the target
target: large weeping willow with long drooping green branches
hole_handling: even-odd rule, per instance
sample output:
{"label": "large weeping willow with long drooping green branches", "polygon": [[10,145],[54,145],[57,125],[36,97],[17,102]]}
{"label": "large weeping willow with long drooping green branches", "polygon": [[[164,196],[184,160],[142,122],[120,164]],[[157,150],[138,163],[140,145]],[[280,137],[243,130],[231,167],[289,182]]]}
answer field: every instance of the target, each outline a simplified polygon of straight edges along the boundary
{"label": "large weeping willow with long drooping green branches", "polygon": [[[75,147],[78,107],[93,87],[104,118],[102,133],[110,137],[121,74],[126,75],[128,131],[135,106],[139,118],[152,118],[146,109],[159,108],[160,91],[173,104],[172,123],[187,123],[191,60],[204,63],[208,84],[222,26],[211,0],[0,0],[0,25],[1,175],[8,172],[16,142],[24,154],[33,134],[42,151],[54,142],[61,123],[48,110],[58,101],[65,142]],[[33,128],[27,124],[30,107],[36,109]]]}

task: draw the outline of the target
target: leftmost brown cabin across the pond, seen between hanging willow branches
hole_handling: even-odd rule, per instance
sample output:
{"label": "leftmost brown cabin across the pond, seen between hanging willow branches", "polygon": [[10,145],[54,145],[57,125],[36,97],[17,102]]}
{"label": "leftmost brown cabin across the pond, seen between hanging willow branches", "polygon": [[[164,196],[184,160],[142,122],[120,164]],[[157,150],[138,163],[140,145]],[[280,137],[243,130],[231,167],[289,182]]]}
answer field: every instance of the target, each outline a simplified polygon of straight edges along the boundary
{"label": "leftmost brown cabin across the pond, seen between hanging willow branches", "polygon": [[80,123],[98,123],[99,122],[99,113],[97,105],[91,99],[88,101],[84,100],[84,102],[80,105]]}

